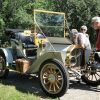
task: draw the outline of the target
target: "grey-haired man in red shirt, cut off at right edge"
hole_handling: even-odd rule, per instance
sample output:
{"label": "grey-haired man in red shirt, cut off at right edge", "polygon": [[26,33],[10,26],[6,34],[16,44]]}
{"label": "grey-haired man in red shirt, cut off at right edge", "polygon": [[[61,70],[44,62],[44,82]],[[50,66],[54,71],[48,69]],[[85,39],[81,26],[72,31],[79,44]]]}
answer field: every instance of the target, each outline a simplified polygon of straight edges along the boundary
{"label": "grey-haired man in red shirt, cut off at right edge", "polygon": [[100,17],[93,17],[92,24],[95,30],[98,30],[98,38],[96,42],[96,49],[100,51]]}

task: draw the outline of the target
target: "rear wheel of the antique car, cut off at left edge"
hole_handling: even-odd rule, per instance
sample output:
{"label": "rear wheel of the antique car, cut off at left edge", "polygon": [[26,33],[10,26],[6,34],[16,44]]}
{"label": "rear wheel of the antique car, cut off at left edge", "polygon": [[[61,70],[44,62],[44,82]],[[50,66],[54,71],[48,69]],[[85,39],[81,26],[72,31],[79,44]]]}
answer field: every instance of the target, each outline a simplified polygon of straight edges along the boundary
{"label": "rear wheel of the antique car, cut off at left edge", "polygon": [[3,53],[0,52],[0,78],[7,78],[9,69],[6,68],[6,61]]}

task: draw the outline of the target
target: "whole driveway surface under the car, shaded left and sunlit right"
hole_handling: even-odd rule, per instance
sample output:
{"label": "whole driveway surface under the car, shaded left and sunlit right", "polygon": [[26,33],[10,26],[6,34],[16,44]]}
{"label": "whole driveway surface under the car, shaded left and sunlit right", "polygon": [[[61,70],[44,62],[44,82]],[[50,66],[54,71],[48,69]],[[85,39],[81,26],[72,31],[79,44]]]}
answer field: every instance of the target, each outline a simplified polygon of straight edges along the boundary
{"label": "whole driveway surface under the car, shaded left and sunlit right", "polygon": [[27,93],[33,93],[40,97],[40,100],[100,100],[100,86],[90,87],[85,83],[77,82],[76,80],[70,81],[70,87],[66,94],[60,98],[48,98],[41,87],[36,77],[29,77],[20,75],[16,72],[10,72],[6,80],[2,80],[5,85],[14,85],[17,90]]}

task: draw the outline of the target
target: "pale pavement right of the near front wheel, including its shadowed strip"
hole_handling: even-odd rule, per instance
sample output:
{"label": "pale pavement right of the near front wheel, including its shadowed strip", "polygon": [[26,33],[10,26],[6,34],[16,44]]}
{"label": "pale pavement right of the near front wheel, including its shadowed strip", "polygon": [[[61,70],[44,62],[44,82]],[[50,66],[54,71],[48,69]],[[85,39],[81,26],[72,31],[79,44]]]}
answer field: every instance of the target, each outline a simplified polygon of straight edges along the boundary
{"label": "pale pavement right of the near front wheel, including its shadowed strip", "polygon": [[100,86],[91,87],[73,80],[69,90],[60,100],[100,100]]}

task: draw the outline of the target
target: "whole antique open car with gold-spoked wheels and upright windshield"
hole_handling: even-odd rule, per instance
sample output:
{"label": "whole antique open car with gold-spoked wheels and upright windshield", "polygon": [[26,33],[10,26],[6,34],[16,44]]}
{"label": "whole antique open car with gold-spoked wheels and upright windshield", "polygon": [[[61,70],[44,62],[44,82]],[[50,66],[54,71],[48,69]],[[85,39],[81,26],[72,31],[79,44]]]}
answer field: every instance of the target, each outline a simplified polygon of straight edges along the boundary
{"label": "whole antique open car with gold-spoked wheels and upright windshield", "polygon": [[95,66],[98,62],[94,52],[85,64],[84,53],[81,53],[84,50],[67,37],[66,23],[65,13],[34,10],[34,28],[7,29],[5,34],[10,45],[0,48],[0,78],[6,78],[9,69],[36,74],[42,90],[50,97],[64,95],[70,77],[93,86],[100,84],[100,69]]}

